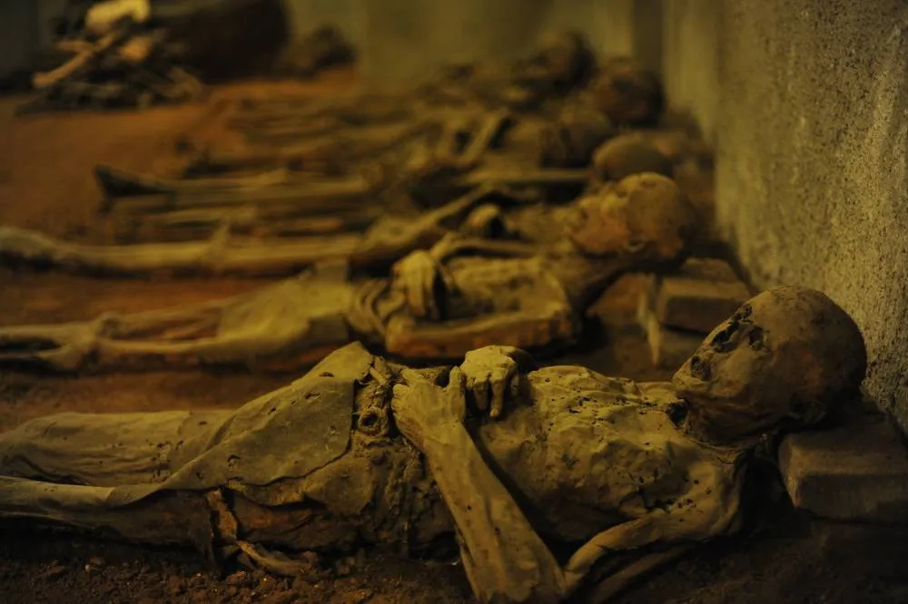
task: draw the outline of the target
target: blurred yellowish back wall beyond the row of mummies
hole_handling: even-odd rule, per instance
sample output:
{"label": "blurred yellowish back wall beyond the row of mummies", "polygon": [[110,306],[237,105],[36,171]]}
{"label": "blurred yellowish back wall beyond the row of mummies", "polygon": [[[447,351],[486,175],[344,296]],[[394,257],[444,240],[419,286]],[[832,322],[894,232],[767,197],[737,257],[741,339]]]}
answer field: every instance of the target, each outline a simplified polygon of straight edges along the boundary
{"label": "blurred yellowish back wall beyond the row of mummies", "polygon": [[600,54],[637,54],[660,67],[661,0],[355,1],[364,15],[363,73],[375,84],[413,83],[446,61],[515,59],[566,29],[587,34]]}

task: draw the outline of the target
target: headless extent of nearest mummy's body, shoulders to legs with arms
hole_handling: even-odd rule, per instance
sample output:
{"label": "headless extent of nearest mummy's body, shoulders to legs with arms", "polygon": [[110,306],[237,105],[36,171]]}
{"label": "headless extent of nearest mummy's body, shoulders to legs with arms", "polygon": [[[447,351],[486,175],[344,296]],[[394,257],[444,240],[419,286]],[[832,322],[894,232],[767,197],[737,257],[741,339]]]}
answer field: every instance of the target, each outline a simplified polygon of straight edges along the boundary
{"label": "headless extent of nearest mummy's body, shoulders to legs with arms", "polygon": [[[521,354],[480,349],[448,375],[350,345],[236,412],[41,418],[0,434],[0,516],[239,547],[287,574],[269,549],[407,553],[456,529],[484,601],[566,598],[611,550],[735,528],[740,455],[686,439],[668,385],[525,375]],[[489,392],[498,418],[470,438],[466,398]],[[587,544],[561,569],[552,541]]]}

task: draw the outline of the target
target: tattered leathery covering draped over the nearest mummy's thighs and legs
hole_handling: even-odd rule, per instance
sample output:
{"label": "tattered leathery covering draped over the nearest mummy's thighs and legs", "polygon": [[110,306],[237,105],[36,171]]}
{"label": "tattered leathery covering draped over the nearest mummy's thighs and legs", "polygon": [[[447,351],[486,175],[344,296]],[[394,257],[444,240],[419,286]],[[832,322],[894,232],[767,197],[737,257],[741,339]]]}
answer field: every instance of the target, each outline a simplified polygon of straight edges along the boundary
{"label": "tattered leathery covering draped over the nearest mummy's thighs and legs", "polygon": [[[23,426],[27,431],[0,435],[5,515],[19,508],[27,516],[54,519],[65,511],[139,502],[157,492],[264,486],[304,477],[348,451],[355,388],[369,375],[373,360],[360,344],[344,346],[301,379],[235,412],[59,414],[30,422]],[[65,438],[61,431],[68,432]],[[123,431],[132,432],[133,440],[146,434],[145,451],[110,454]],[[165,434],[163,442],[154,440],[156,432]],[[162,450],[161,463],[149,467],[144,453]],[[84,460],[85,475],[79,475],[74,457]],[[99,465],[99,457],[109,462]],[[59,477],[62,484],[15,478],[46,480],[54,466],[74,475]],[[149,482],[134,483],[143,471]],[[133,483],[121,482],[127,476]],[[154,481],[154,476],[161,478]],[[82,495],[66,489],[67,483],[105,488]],[[66,491],[73,496],[61,496]]]}

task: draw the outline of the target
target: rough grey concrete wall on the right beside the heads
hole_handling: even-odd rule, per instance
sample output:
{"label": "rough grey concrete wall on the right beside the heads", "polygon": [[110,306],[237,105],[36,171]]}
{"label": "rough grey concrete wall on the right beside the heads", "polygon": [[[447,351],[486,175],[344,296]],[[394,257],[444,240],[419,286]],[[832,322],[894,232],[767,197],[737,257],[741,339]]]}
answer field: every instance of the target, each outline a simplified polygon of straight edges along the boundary
{"label": "rough grey concrete wall on the right beside the heads", "polygon": [[665,18],[669,97],[716,141],[720,225],[757,285],[852,314],[868,389],[908,428],[908,3],[667,0]]}

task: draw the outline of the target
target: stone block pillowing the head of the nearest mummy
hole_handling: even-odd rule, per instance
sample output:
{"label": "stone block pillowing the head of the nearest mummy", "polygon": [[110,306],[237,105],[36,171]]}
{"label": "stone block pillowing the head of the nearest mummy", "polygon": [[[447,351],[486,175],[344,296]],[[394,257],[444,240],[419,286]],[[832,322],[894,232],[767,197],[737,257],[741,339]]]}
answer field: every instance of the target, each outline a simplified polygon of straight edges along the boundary
{"label": "stone block pillowing the head of the nearest mummy", "polygon": [[786,436],[779,469],[799,509],[835,520],[908,523],[908,449],[882,415]]}

